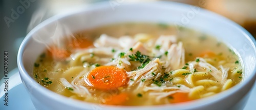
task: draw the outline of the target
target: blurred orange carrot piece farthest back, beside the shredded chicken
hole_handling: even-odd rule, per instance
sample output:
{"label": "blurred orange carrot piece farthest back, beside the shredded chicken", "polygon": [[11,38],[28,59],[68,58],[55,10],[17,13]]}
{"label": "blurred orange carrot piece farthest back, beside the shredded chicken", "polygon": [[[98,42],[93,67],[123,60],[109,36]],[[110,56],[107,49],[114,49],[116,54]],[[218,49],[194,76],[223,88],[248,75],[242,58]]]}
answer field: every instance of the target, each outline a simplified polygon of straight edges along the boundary
{"label": "blurred orange carrot piece farthest back, beside the shredded chicken", "polygon": [[72,48],[88,48],[93,46],[93,42],[85,38],[74,38],[71,41]]}

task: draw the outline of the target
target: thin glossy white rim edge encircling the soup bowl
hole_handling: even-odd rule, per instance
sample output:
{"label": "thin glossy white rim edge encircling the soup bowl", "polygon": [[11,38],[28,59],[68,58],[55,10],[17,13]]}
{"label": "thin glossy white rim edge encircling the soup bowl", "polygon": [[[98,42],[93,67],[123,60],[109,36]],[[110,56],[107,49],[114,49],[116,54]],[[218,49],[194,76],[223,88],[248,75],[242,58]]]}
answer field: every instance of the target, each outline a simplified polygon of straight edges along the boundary
{"label": "thin glossy white rim edge encircling the soup bowl", "polygon": [[[221,96],[221,97],[212,98],[212,97],[214,97],[214,96],[212,96],[212,97],[207,97],[207,98],[202,98],[202,99],[194,100],[194,101],[187,102],[187,103],[167,104],[167,105],[150,105],[150,106],[112,106],[112,105],[101,105],[101,104],[96,104],[96,103],[91,103],[91,102],[84,102],[84,101],[79,101],[79,100],[73,100],[73,99],[70,99],[68,97],[65,97],[65,96],[59,95],[57,93],[54,93],[54,92],[46,89],[45,87],[41,86],[40,84],[38,84],[26,72],[26,69],[25,69],[25,67],[23,65],[23,63],[24,63],[23,62],[23,53],[25,51],[25,47],[28,45],[29,40],[32,38],[32,35],[34,33],[36,33],[38,30],[40,30],[41,28],[43,28],[43,27],[45,27],[47,25],[50,25],[51,23],[53,23],[56,20],[59,20],[59,19],[65,18],[65,17],[69,17],[69,16],[72,16],[72,15],[75,15],[75,14],[79,14],[79,13],[90,12],[92,10],[97,10],[97,9],[100,10],[100,9],[103,9],[103,8],[110,8],[110,7],[106,7],[106,4],[107,4],[107,2],[96,3],[96,4],[93,4],[93,5],[90,5],[87,8],[84,8],[84,9],[79,9],[79,10],[68,12],[68,13],[65,13],[65,14],[55,15],[55,16],[53,16],[51,18],[46,19],[45,21],[43,21],[42,23],[37,25],[34,29],[32,29],[27,34],[27,36],[24,38],[22,44],[19,47],[18,55],[17,55],[17,65],[18,65],[19,74],[20,74],[22,80],[26,80],[27,82],[30,82],[30,85],[32,87],[39,87],[39,89],[42,91],[40,94],[44,94],[46,96],[54,95],[54,97],[48,97],[48,98],[51,98],[52,100],[57,100],[58,102],[60,102],[62,104],[67,104],[69,106],[76,106],[76,107],[79,107],[79,108],[84,108],[83,106],[87,106],[87,105],[92,105],[93,104],[93,105],[100,105],[100,106],[104,106],[104,107],[108,107],[108,108],[124,108],[125,107],[125,108],[130,109],[130,108],[141,108],[141,107],[143,107],[143,108],[147,108],[147,107],[148,108],[149,107],[150,108],[158,108],[158,107],[169,108],[169,107],[174,107],[174,108],[185,108],[186,109],[186,108],[190,108],[192,106],[193,106],[193,108],[197,108],[197,107],[200,107],[200,106],[205,106],[205,105],[208,105],[210,103],[222,100],[222,99],[230,96],[231,94],[234,94],[236,91],[241,89],[244,85],[246,85],[247,83],[252,81],[253,78],[256,76],[256,68],[254,68],[253,69],[253,74],[252,74],[254,77],[249,77],[248,80],[243,80],[243,82],[241,84],[233,86],[229,90],[226,90],[224,92],[218,93],[217,95],[214,95],[214,96]],[[160,5],[165,5],[165,6],[166,5],[169,5],[169,6],[177,5],[178,7],[190,6],[190,5],[186,5],[186,4],[182,4],[182,3],[164,2],[164,1],[154,2],[154,4],[152,4],[152,3],[146,3],[146,4],[147,5],[150,4],[150,5],[153,5],[153,6],[160,6]],[[138,5],[138,3],[122,4],[122,5]],[[221,20],[225,21],[228,25],[236,27],[237,30],[239,30],[241,33],[243,33],[243,35],[244,35],[243,37],[245,37],[246,39],[248,39],[250,41],[250,45],[252,45],[254,54],[256,53],[256,48],[255,48],[256,41],[255,41],[254,37],[252,37],[252,35],[247,30],[245,30],[240,25],[234,23],[233,21],[229,20],[228,18],[225,18],[225,17],[223,17],[221,15],[218,15],[218,14],[216,14],[214,12],[207,11],[207,10],[202,9],[202,8],[200,8],[200,9],[201,9],[201,14],[202,15],[211,15],[212,17],[217,17],[218,19],[221,19]],[[23,81],[23,83],[24,83],[24,81]],[[198,105],[198,103],[201,103],[201,105]],[[186,106],[189,105],[189,107],[186,107],[186,106],[184,107],[184,105],[186,105]]]}

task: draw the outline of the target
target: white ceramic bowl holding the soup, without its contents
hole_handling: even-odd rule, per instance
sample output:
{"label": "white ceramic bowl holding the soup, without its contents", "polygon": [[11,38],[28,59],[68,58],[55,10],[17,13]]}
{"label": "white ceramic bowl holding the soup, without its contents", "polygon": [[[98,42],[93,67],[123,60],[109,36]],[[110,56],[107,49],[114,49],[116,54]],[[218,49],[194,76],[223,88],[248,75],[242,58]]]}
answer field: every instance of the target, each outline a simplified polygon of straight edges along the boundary
{"label": "white ceramic bowl holding the soup, without its contents", "polygon": [[[113,10],[113,8],[115,10]],[[244,69],[242,83],[215,96],[186,104],[157,106],[109,106],[81,102],[58,95],[38,84],[33,77],[33,64],[45,45],[33,37],[49,39],[56,22],[71,32],[122,22],[149,22],[182,25],[222,40],[239,56]],[[24,39],[18,52],[18,69],[37,109],[242,109],[256,78],[255,40],[244,28],[215,13],[173,2],[121,4],[99,3],[80,11],[52,17],[35,27]]]}

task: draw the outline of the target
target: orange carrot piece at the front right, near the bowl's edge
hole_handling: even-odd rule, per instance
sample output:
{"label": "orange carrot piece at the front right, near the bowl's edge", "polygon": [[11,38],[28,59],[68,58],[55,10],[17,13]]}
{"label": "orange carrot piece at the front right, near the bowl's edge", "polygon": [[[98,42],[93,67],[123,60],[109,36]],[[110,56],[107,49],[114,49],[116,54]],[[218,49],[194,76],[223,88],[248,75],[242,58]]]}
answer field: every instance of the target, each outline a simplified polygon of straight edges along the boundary
{"label": "orange carrot piece at the front right, near the bowl's edge", "polygon": [[180,102],[187,102],[191,99],[188,98],[188,93],[175,93],[170,96],[170,103],[180,103]]}

